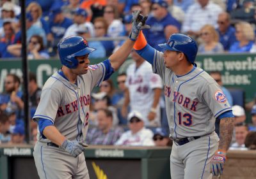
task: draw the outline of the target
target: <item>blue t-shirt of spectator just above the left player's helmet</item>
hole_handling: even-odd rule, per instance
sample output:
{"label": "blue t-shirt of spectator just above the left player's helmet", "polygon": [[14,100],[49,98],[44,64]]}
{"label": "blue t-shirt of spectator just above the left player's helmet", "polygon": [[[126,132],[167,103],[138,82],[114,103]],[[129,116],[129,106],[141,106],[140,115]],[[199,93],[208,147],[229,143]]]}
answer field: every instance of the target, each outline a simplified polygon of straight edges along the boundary
{"label": "blue t-shirt of spectator just above the left player's helmet", "polygon": [[70,18],[65,17],[64,20],[60,23],[54,23],[52,20],[49,21],[49,27],[51,33],[54,36],[54,39],[63,38],[67,28],[72,25],[73,22]]}

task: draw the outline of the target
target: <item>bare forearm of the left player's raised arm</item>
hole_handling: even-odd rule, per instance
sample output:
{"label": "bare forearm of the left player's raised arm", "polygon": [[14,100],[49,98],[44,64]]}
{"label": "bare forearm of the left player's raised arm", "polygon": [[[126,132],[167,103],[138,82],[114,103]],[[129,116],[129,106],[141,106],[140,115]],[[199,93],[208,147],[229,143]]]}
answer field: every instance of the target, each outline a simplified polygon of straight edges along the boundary
{"label": "bare forearm of the left player's raised arm", "polygon": [[118,50],[109,57],[112,68],[116,71],[131,53],[134,41],[127,39]]}

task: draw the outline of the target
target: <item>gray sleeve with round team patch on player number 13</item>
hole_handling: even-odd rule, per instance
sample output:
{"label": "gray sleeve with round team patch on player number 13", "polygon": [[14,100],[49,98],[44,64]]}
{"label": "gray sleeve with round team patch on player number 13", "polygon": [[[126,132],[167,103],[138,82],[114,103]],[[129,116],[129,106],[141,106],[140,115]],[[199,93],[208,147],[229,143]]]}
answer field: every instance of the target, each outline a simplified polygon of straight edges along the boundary
{"label": "gray sleeve with round team patch on player number 13", "polygon": [[203,101],[208,104],[215,118],[225,111],[232,110],[218,83],[207,83],[203,94]]}

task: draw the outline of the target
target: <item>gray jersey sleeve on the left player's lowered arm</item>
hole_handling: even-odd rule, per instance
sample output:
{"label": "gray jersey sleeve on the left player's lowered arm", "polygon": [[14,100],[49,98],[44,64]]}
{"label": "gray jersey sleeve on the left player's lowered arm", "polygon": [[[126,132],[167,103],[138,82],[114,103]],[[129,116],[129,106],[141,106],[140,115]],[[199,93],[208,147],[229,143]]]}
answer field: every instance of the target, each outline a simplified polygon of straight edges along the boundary
{"label": "gray jersey sleeve on the left player's lowered arm", "polygon": [[51,122],[54,123],[60,103],[60,91],[54,89],[42,90],[40,102],[36,108],[33,120],[37,121],[38,118],[45,118],[51,120]]}

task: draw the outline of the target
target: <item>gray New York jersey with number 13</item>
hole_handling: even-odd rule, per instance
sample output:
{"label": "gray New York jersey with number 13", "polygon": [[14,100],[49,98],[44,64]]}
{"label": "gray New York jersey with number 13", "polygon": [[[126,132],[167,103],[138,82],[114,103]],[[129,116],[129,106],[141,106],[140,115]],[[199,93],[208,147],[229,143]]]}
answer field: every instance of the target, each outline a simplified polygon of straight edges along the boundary
{"label": "gray New York jersey with number 13", "polygon": [[231,110],[218,83],[194,66],[178,76],[165,68],[163,52],[155,50],[153,71],[164,83],[166,113],[173,138],[205,136],[214,132],[214,118]]}

